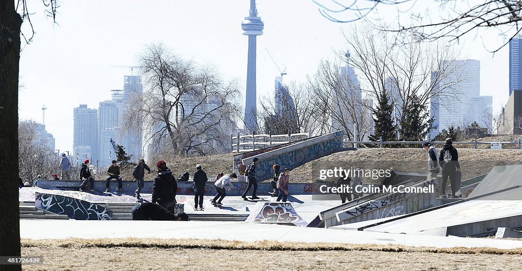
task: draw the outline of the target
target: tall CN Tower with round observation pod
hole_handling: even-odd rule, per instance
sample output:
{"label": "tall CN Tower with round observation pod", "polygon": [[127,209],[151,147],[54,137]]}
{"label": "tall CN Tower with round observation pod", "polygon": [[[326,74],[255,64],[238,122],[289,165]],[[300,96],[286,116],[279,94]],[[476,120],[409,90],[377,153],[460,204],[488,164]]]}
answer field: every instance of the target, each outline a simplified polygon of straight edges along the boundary
{"label": "tall CN Tower with round observation pod", "polygon": [[248,63],[246,66],[245,128],[257,131],[256,98],[256,36],[263,35],[264,23],[257,17],[256,1],[250,0],[249,16],[241,23],[243,35],[248,36]]}

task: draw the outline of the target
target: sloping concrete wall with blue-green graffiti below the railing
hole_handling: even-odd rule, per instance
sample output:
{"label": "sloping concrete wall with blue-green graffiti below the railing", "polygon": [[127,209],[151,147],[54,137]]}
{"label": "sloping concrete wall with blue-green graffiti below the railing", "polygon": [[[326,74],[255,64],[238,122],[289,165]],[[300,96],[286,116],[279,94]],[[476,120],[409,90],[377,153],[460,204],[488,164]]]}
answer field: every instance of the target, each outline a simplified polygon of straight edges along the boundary
{"label": "sloping concrete wall with blue-green graffiti below the railing", "polygon": [[298,144],[282,147],[276,150],[251,156],[242,160],[243,165],[252,163],[254,158],[259,159],[256,166],[257,180],[266,180],[274,175],[274,164],[281,165],[281,169],[288,167],[295,169],[312,160],[327,156],[328,154],[342,150],[344,131],[330,133],[307,139]]}

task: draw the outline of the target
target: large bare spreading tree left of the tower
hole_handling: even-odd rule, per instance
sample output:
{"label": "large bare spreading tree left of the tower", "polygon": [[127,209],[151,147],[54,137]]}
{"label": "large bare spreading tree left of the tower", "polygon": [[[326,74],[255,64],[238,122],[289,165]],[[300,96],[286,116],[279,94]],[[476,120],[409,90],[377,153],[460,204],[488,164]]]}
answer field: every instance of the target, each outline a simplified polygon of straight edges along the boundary
{"label": "large bare spreading tree left of the tower", "polygon": [[156,150],[168,143],[171,153],[185,156],[224,151],[238,112],[237,83],[161,44],[148,46],[139,61],[146,89],[134,97],[125,127],[144,125]]}

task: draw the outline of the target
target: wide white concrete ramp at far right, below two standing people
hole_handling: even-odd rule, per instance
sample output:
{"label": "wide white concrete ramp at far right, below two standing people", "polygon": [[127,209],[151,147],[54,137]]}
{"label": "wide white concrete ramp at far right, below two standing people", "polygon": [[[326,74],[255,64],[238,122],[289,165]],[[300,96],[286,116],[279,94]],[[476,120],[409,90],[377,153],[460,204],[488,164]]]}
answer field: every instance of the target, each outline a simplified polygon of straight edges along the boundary
{"label": "wide white concrete ramp at far right, below two standing people", "polygon": [[492,236],[499,227],[522,227],[521,192],[521,187],[508,188],[481,198],[461,200],[377,223],[364,230],[459,237]]}

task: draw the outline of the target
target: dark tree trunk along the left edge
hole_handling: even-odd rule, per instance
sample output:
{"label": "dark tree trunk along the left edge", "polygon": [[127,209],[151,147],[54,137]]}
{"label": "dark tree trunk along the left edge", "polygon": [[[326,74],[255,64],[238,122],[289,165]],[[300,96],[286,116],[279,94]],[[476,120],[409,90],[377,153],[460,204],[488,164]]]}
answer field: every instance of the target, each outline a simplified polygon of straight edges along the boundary
{"label": "dark tree trunk along the left edge", "polygon": [[[0,0],[0,256],[20,255],[18,208],[18,68],[20,25],[15,1]],[[0,270],[20,265],[0,265]]]}

